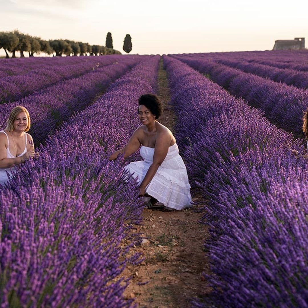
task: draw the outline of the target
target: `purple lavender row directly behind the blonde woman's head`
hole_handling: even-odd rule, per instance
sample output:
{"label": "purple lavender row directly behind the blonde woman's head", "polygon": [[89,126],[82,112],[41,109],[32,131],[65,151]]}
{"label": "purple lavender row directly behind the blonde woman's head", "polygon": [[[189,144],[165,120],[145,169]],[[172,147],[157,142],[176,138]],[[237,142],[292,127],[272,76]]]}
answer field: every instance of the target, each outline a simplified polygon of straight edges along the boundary
{"label": "purple lavender row directly behind the blonde woman's head", "polygon": [[35,136],[35,144],[40,144],[59,123],[67,120],[74,112],[85,108],[98,92],[105,90],[113,80],[142,59],[123,57],[120,63],[98,67],[79,78],[59,82],[14,103],[0,105],[0,127],[5,128],[12,108],[22,105],[31,114],[30,134]]}

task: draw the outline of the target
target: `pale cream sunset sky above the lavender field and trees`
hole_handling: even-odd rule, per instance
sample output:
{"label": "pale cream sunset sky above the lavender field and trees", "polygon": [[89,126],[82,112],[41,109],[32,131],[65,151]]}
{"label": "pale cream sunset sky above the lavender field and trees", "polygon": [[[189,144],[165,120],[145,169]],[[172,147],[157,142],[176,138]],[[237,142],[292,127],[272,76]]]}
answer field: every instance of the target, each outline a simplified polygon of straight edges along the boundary
{"label": "pale cream sunset sky above the lavender field and trees", "polygon": [[91,45],[105,45],[111,32],[123,54],[126,34],[131,54],[271,50],[275,40],[294,37],[305,37],[307,48],[305,2],[0,0],[0,31]]}

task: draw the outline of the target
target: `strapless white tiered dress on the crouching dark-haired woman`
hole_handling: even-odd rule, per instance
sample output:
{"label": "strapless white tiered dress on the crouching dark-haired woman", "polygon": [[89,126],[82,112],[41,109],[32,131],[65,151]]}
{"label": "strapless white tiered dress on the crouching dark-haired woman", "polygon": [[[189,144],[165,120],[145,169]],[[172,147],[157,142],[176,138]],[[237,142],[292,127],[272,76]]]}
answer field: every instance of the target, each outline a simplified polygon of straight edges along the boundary
{"label": "strapless white tiered dress on the crouching dark-haired woman", "polygon": [[[124,167],[139,183],[153,163],[154,148],[142,145],[140,155],[144,160],[132,162]],[[176,143],[169,147],[167,156],[145,191],[170,209],[181,210],[191,206],[187,171]]]}

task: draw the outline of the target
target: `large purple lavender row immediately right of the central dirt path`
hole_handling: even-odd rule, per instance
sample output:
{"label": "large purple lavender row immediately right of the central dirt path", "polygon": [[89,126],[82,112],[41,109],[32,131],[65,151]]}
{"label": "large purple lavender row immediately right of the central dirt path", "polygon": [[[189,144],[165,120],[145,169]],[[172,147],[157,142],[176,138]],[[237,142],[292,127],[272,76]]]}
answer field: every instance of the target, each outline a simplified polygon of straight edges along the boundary
{"label": "large purple lavender row immediately right of the central dirt path", "polygon": [[299,144],[186,64],[168,56],[164,63],[181,155],[191,184],[209,200],[210,300],[308,307],[308,166],[288,148]]}

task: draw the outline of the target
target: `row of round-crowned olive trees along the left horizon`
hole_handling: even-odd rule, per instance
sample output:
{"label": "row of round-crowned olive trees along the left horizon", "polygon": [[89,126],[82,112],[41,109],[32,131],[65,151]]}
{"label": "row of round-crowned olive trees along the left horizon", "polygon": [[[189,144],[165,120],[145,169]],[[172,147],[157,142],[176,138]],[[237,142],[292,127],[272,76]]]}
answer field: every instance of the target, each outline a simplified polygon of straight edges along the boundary
{"label": "row of round-crowned olive trees along the left horizon", "polygon": [[23,34],[18,30],[10,32],[0,32],[0,49],[3,48],[6,58],[9,58],[8,52],[15,58],[15,52],[20,51],[20,56],[24,57],[24,52],[29,52],[29,56],[35,53],[45,52],[48,55],[111,55],[121,54],[120,51],[100,45],[89,45],[89,43],[74,42],[71,40],[55,39],[43,40],[39,37]]}

